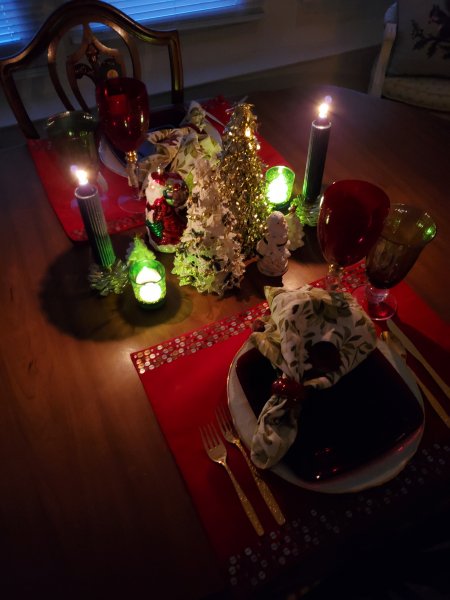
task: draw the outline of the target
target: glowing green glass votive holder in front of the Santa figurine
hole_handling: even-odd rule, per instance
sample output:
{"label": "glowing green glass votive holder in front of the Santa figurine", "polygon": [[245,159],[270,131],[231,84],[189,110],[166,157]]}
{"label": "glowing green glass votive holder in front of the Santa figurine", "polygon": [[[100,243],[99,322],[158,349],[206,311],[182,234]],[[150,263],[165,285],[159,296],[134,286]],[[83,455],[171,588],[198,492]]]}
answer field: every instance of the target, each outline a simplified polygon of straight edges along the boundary
{"label": "glowing green glass votive holder in front of the Santa figurine", "polygon": [[139,260],[130,265],[133,293],[142,308],[154,309],[166,300],[166,271],[157,260]]}

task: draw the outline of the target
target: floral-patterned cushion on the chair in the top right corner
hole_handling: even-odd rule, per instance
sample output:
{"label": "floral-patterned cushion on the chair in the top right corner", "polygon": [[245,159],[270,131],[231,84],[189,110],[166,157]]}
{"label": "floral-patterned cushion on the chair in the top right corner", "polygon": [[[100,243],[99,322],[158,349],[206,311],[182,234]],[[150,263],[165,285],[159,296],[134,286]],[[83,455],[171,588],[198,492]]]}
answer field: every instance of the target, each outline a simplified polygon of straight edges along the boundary
{"label": "floral-patterned cushion on the chair in the top right corner", "polygon": [[450,1],[398,0],[390,76],[450,78]]}

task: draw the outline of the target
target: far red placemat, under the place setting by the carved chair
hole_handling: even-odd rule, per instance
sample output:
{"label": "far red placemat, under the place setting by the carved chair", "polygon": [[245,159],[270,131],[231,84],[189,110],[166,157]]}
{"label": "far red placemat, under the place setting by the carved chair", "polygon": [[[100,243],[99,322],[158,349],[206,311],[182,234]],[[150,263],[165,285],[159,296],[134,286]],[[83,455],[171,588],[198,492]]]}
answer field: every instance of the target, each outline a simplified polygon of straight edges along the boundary
{"label": "far red placemat, under the place setting by the carved chair", "polygon": [[[230,103],[222,97],[217,97],[206,104],[208,112],[217,116],[224,123],[229,120],[229,113],[226,112],[229,107]],[[211,122],[222,133],[223,127],[215,121]],[[289,166],[275,148],[270,146],[261,137],[259,140],[261,144],[260,155],[265,164],[268,166],[279,164]],[[28,148],[48,200],[64,231],[73,241],[87,239],[74,195],[75,185],[71,181],[69,174],[63,173],[58,167],[57,157],[52,151],[50,142],[48,140],[28,140]],[[137,215],[124,212],[118,205],[118,198],[129,194],[130,188],[128,187],[127,179],[113,173],[103,164],[100,165],[100,168],[108,185],[107,191],[102,193],[99,190],[108,232],[114,234],[143,225],[145,221],[144,202],[142,202],[142,214]]]}

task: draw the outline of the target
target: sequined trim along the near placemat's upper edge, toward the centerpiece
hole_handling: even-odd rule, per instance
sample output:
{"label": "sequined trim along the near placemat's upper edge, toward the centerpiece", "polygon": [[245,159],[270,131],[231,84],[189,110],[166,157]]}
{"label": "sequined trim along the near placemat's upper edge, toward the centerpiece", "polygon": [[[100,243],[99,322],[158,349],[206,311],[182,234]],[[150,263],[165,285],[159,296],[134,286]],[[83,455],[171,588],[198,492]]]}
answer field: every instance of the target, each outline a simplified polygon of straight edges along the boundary
{"label": "sequined trim along the near placemat's upper edge, toward the centerpiece", "polygon": [[[355,265],[344,273],[344,289],[350,293],[365,282],[364,263]],[[314,281],[311,285],[314,287],[324,287],[324,284],[325,280],[322,278]],[[170,363],[188,354],[194,354],[202,348],[209,348],[219,341],[241,333],[251,327],[253,321],[263,316],[267,310],[267,302],[262,302],[237,315],[226,317],[221,321],[211,323],[196,331],[180,335],[139,352],[133,352],[131,360],[138,373],[143,374],[145,371],[152,371],[165,363]]]}

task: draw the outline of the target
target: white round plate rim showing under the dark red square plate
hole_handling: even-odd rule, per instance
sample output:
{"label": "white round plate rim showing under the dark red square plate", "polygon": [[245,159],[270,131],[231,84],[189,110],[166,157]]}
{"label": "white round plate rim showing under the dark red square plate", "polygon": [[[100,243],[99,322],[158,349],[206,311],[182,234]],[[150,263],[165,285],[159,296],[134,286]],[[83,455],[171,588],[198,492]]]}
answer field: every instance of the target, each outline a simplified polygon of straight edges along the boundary
{"label": "white round plate rim showing under the dark red square plate", "polygon": [[[230,412],[239,437],[247,446],[247,448],[250,448],[251,446],[251,440],[256,428],[257,419],[239,382],[239,378],[236,373],[236,363],[242,354],[253,347],[254,346],[247,341],[236,354],[230,366],[227,382],[228,405]],[[423,410],[422,396],[409,368],[398,355],[391,352],[389,347],[382,340],[379,340],[378,348],[384,357],[398,371],[400,376],[413,392],[417,402],[420,404]],[[357,492],[366,488],[381,485],[398,475],[398,473],[402,471],[407,462],[416,453],[420,444],[420,440],[422,439],[423,430],[424,422],[422,422],[421,426],[416,429],[416,431],[414,431],[406,441],[403,440],[400,444],[394,446],[389,452],[383,453],[379,458],[372,460],[361,467],[348,471],[343,475],[336,476],[335,478],[327,481],[318,483],[304,481],[300,479],[287,465],[283,464],[283,462],[279,462],[277,465],[272,467],[271,470],[282,479],[308,490],[324,492],[327,494]]]}

